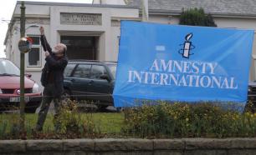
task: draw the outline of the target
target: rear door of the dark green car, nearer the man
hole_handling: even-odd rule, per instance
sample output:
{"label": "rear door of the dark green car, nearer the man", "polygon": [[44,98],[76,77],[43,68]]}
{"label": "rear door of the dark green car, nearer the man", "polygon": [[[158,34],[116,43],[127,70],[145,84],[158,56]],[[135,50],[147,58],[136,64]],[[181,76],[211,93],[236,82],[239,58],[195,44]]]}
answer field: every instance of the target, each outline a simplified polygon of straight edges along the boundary
{"label": "rear door of the dark green car, nearer the man", "polygon": [[86,99],[87,87],[90,83],[90,69],[90,64],[79,64],[74,69],[73,76],[70,77],[70,85],[72,85],[71,91],[73,93],[74,99]]}

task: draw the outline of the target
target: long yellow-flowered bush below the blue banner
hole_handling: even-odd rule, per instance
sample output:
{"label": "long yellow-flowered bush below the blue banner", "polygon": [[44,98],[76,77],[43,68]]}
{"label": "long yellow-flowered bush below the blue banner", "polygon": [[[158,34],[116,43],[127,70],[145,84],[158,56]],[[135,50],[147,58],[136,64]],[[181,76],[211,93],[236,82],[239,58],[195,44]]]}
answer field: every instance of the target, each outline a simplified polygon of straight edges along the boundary
{"label": "long yellow-flowered bush below the blue banner", "polygon": [[141,138],[255,137],[256,114],[212,103],[160,102],[125,110],[127,135]]}

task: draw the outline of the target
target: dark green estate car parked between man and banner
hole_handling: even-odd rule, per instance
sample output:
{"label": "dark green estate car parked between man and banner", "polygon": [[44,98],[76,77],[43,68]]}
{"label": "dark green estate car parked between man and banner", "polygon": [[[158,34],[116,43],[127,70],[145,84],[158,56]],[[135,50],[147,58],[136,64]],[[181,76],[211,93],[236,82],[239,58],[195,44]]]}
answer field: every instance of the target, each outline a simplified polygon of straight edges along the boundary
{"label": "dark green estate car parked between man and banner", "polygon": [[78,102],[93,102],[100,110],[113,105],[116,62],[69,61],[64,71],[64,92]]}

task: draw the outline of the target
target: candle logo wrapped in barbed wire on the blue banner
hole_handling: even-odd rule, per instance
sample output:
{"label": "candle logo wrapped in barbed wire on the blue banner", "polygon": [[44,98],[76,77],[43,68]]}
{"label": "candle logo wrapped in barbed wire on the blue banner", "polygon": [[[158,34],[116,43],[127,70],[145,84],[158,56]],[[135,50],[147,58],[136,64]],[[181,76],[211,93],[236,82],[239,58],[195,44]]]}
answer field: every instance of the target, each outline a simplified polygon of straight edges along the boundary
{"label": "candle logo wrapped in barbed wire on the blue banner", "polygon": [[192,42],[190,41],[192,36],[193,36],[192,32],[188,33],[187,36],[185,37],[186,41],[180,44],[180,46],[183,47],[182,49],[179,50],[179,53],[182,54],[182,57],[189,58],[190,55],[194,54],[194,53],[191,53],[192,49],[195,49],[195,46],[192,45]]}

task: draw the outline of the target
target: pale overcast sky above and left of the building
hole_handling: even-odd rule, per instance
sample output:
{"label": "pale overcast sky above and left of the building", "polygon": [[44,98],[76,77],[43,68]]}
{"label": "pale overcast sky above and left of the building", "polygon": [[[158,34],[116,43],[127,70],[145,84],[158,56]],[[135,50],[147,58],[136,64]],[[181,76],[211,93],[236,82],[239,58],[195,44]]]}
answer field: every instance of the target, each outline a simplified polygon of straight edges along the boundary
{"label": "pale overcast sky above and left of the building", "polygon": [[[28,0],[32,1],[32,0]],[[73,3],[91,3],[92,0],[33,0],[34,2],[73,2]],[[11,20],[13,10],[17,0],[6,0],[0,5],[0,57],[5,57],[3,45],[6,32],[8,30],[8,22]],[[26,3],[25,3],[26,4]]]}

